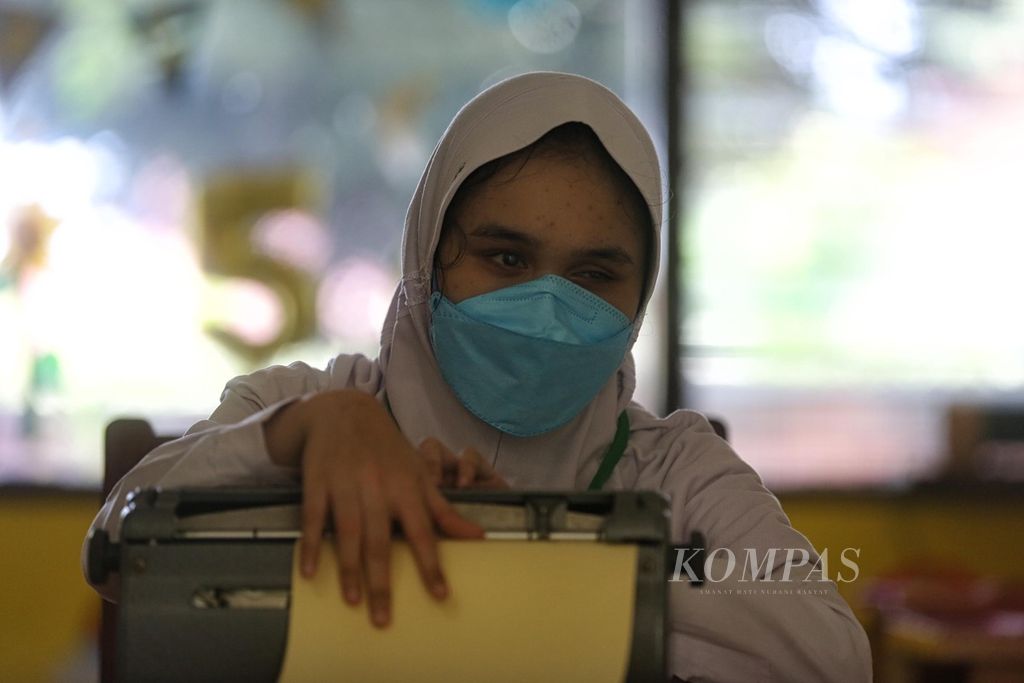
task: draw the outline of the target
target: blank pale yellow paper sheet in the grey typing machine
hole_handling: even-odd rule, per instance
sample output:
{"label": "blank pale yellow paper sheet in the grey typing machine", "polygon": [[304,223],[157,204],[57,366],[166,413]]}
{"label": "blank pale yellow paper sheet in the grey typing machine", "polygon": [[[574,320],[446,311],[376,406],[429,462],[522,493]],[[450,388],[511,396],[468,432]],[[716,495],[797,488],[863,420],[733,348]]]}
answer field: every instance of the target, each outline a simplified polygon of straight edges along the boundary
{"label": "blank pale yellow paper sheet in the grey typing machine", "polygon": [[618,682],[633,633],[633,545],[441,541],[451,589],[434,600],[409,547],[392,545],[391,623],[341,598],[334,548],[316,575],[292,564],[282,683],[309,681]]}

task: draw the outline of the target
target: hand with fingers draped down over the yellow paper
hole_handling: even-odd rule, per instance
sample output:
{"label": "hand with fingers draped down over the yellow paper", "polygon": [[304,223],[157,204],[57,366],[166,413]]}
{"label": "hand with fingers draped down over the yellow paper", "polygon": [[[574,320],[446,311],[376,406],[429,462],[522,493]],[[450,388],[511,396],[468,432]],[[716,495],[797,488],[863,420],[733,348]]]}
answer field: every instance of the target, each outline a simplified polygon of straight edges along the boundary
{"label": "hand with fingers draped down over the yellow paper", "polygon": [[304,577],[316,570],[331,515],[345,601],[358,604],[365,585],[373,623],[386,626],[391,525],[397,521],[427,590],[437,599],[447,596],[434,525],[463,539],[482,538],[483,529],[444,500],[427,461],[373,396],[354,390],[314,394],[278,413],[264,435],[273,462],[302,470]]}

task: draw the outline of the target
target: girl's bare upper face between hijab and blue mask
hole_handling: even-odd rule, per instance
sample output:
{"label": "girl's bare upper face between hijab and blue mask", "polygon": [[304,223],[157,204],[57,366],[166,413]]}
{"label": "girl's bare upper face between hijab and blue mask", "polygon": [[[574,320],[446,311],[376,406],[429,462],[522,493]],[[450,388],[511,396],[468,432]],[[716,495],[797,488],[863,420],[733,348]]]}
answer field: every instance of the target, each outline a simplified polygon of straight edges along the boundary
{"label": "girl's bare upper face between hijab and blue mask", "polygon": [[[449,210],[438,246],[441,292],[454,303],[542,275],[560,275],[631,321],[644,281],[644,217],[588,155],[513,162]],[[453,239],[461,230],[465,243]]]}

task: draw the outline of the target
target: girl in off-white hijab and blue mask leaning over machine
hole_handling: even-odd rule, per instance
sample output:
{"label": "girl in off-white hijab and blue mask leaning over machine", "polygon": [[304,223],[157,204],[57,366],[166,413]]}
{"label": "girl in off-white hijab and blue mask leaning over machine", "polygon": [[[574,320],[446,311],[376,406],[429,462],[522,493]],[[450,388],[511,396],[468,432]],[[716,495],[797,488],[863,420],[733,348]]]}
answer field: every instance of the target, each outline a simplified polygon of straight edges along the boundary
{"label": "girl in off-white hijab and blue mask leaning over machine", "polygon": [[[537,73],[489,88],[452,122],[413,197],[379,357],[231,380],[209,420],[115,487],[93,527],[117,538],[136,486],[301,481],[304,573],[330,518],[344,599],[366,597],[385,626],[392,520],[444,599],[436,535],[481,529],[439,484],[586,488],[620,434],[628,442],[605,488],[668,495],[676,543],[699,529],[740,562],[779,549],[761,570],[780,580],[787,550],[817,555],[758,475],[700,415],[658,418],[632,401],[629,349],[656,278],[660,187],[649,136],[604,87]],[[716,587],[751,588],[739,578]],[[831,582],[812,586],[711,595],[672,584],[672,673],[868,680],[863,630]]]}

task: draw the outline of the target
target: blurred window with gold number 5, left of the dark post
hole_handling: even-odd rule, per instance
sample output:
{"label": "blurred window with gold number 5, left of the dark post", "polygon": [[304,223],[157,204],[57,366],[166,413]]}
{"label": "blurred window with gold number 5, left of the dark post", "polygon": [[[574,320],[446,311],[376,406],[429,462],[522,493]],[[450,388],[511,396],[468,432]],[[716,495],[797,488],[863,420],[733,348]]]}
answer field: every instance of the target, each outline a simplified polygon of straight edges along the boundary
{"label": "blurred window with gold number 5, left of the dark post", "polygon": [[627,90],[616,2],[2,7],[5,482],[95,486],[112,415],[185,422],[233,375],[375,354],[459,106],[535,69]]}

